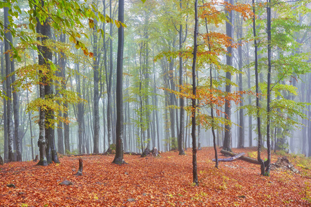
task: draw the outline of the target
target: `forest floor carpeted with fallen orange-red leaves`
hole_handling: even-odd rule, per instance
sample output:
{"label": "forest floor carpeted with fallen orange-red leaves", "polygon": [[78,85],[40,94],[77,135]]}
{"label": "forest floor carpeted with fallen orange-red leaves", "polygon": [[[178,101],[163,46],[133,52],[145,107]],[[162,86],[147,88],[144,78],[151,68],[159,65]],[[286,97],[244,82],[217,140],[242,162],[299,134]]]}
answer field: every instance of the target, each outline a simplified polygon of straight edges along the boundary
{"label": "forest floor carpeted with fallen orange-red leaves", "polygon": [[[256,148],[233,149],[255,157]],[[128,164],[111,164],[114,155],[82,156],[82,176],[75,176],[79,157],[60,157],[60,164],[32,161],[0,166],[0,206],[310,206],[311,160],[287,155],[300,172],[272,170],[243,160],[220,162],[213,148],[198,151],[199,186],[192,184],[192,152],[160,157],[124,155]],[[266,155],[264,150],[262,155]],[[224,158],[220,155],[218,157]],[[272,163],[282,155],[272,155]],[[263,157],[264,158],[264,157]],[[71,186],[61,186],[64,180]],[[10,188],[8,184],[15,184]]]}

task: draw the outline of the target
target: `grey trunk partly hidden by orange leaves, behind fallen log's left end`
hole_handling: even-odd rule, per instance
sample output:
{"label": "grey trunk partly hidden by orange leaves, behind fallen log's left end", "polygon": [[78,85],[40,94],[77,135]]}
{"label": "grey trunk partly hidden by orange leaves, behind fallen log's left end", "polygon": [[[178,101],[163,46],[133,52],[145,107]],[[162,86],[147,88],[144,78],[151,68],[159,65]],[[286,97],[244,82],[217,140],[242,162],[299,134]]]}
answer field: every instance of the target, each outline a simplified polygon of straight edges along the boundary
{"label": "grey trunk partly hidden by orange leaves, behind fallen log's left end", "polygon": [[[228,2],[228,0],[226,0]],[[230,4],[234,4],[234,0],[229,0]],[[226,15],[228,18],[228,21],[226,22],[226,34],[228,37],[233,38],[233,23],[234,23],[234,19],[233,19],[233,11],[228,11],[226,10]],[[228,54],[226,55],[226,59],[227,59],[227,66],[232,66],[232,47],[227,47],[227,52]],[[226,79],[231,81],[232,79],[232,75],[231,72],[226,72]],[[231,92],[232,91],[232,86],[231,84],[226,84],[226,88],[225,88],[226,92]],[[225,103],[225,119],[227,119],[228,121],[231,121],[231,115],[232,115],[232,106],[230,101],[226,101]],[[232,151],[231,150],[231,145],[232,145],[232,127],[230,124],[225,124],[225,140],[223,143],[223,149],[224,150],[228,150],[228,151]]]}

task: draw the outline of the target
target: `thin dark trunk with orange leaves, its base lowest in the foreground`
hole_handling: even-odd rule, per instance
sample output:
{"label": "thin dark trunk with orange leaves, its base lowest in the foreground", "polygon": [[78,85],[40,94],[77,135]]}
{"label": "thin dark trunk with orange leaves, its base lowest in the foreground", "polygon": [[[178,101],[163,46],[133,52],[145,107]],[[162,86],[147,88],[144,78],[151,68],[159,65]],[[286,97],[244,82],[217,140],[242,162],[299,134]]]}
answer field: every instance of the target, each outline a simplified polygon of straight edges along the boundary
{"label": "thin dark trunk with orange leaves, its base lowest in the foreground", "polygon": [[198,166],[196,162],[196,53],[198,50],[197,36],[198,36],[198,0],[194,3],[194,59],[192,62],[192,94],[194,98],[192,99],[191,106],[191,123],[192,123],[192,165],[193,165],[193,182],[198,186]]}

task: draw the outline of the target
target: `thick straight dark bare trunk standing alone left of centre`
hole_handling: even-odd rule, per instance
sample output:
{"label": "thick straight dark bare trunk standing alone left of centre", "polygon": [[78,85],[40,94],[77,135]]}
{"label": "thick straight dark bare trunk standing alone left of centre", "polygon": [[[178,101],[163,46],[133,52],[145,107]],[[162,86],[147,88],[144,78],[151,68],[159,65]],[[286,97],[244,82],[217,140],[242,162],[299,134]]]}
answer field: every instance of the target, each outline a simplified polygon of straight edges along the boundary
{"label": "thick straight dark bare trunk standing alone left of centre", "polygon": [[[124,23],[124,0],[119,0],[118,20]],[[123,71],[123,48],[124,48],[124,28],[118,28],[117,38],[117,123],[115,126],[116,149],[113,163],[124,164],[123,159],[123,90],[122,90],[122,71]]]}

